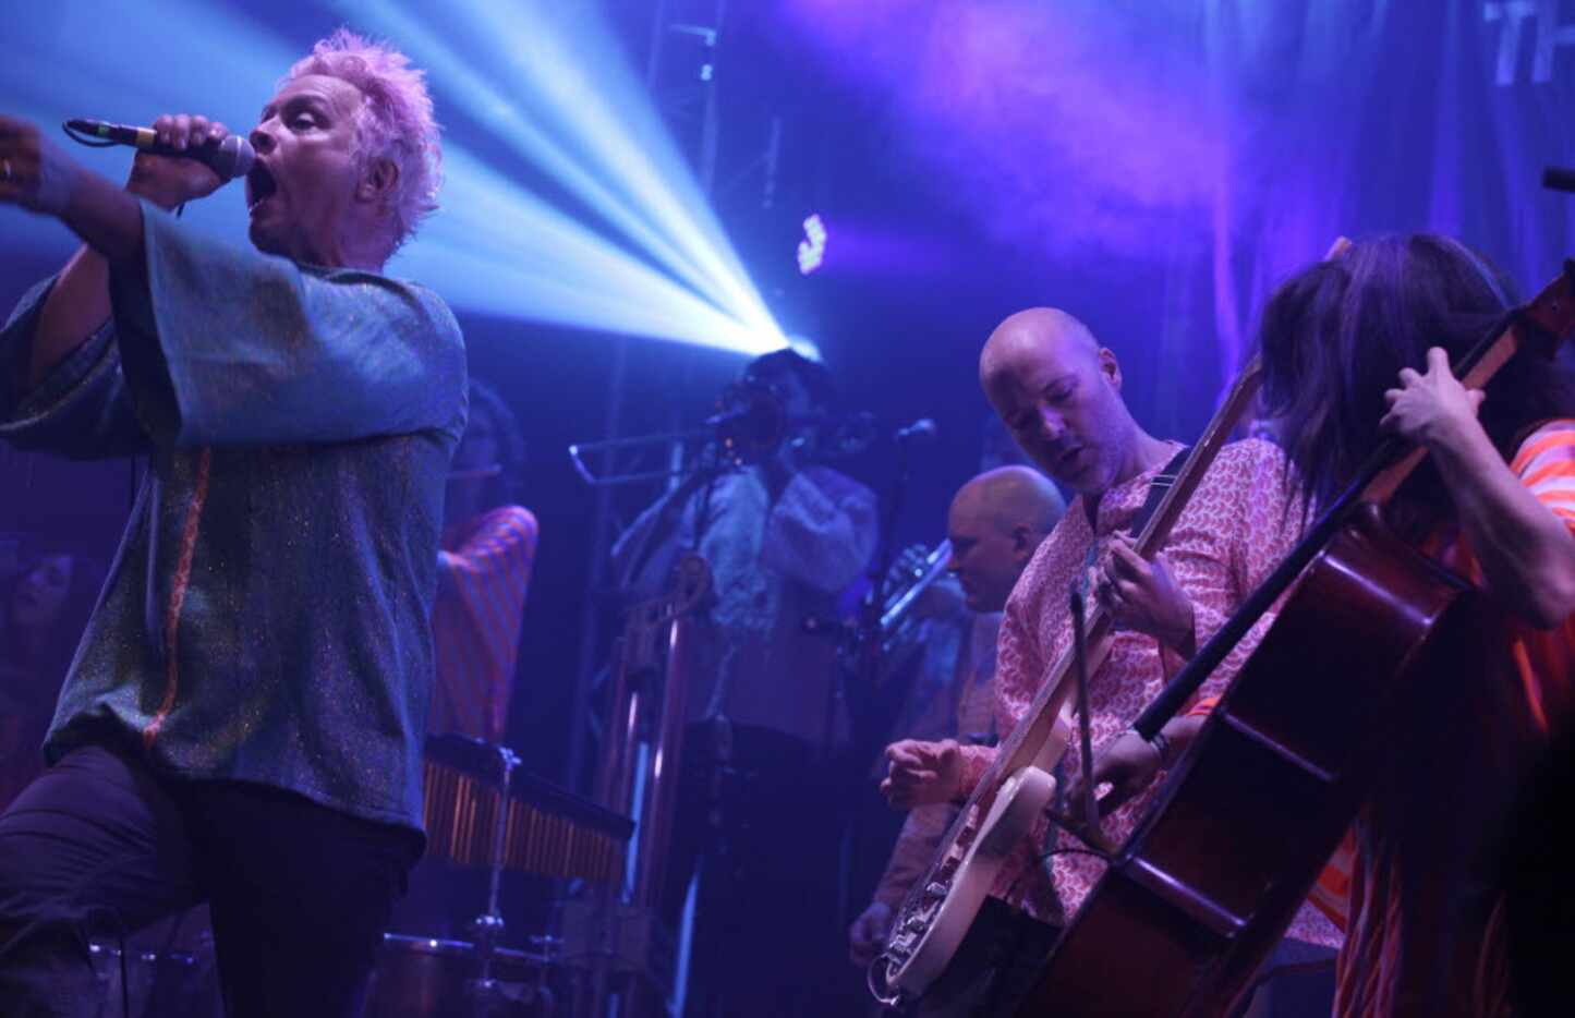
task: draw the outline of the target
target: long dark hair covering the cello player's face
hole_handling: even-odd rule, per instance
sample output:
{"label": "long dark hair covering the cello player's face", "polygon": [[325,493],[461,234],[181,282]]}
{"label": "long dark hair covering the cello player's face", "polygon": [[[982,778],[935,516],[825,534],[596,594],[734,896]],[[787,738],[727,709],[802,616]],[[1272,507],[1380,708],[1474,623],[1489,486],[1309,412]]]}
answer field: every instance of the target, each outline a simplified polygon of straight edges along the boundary
{"label": "long dark hair covering the cello player's face", "polygon": [[[1425,370],[1429,347],[1458,362],[1507,321],[1517,299],[1485,258],[1432,233],[1362,241],[1284,282],[1258,326],[1262,413],[1307,504],[1329,503],[1378,448],[1383,394],[1399,385],[1402,367]],[[1504,459],[1529,427],[1559,416],[1575,416],[1575,383],[1567,369],[1529,355],[1493,377],[1480,410]],[[1449,504],[1430,468],[1406,485],[1403,501],[1432,517]]]}

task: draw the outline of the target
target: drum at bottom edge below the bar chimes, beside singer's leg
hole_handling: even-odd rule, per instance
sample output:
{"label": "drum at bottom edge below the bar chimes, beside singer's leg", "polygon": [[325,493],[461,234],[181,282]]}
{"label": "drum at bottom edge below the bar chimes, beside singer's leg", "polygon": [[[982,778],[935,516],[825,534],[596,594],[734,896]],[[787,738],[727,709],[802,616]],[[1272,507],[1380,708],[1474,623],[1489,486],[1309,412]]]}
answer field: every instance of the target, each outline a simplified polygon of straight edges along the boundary
{"label": "drum at bottom edge below the bar chimes, beside singer's leg", "polygon": [[479,985],[480,958],[468,941],[383,936],[367,1018],[545,1018],[553,1013],[548,961],[496,949],[491,983]]}

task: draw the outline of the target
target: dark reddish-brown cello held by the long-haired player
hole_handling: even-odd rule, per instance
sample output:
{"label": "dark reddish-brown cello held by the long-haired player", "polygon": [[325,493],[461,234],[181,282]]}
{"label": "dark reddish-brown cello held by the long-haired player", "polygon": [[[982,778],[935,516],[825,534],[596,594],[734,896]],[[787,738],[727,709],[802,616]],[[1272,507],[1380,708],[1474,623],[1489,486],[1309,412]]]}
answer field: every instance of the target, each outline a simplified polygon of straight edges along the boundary
{"label": "dark reddish-brown cello held by the long-haired player", "polygon": [[[1455,370],[1480,388],[1521,350],[1551,356],[1572,333],[1575,262]],[[1381,517],[1424,455],[1378,449],[1134,723],[1153,737],[1290,591],[1019,1015],[1225,1015],[1392,761],[1422,684],[1480,671],[1496,608]]]}

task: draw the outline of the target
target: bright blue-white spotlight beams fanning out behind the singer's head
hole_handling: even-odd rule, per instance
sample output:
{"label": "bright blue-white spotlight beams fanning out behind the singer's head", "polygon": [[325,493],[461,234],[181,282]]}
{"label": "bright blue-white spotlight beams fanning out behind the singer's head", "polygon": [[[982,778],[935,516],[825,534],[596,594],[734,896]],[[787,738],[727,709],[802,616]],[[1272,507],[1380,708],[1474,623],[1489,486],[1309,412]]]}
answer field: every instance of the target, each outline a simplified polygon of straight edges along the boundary
{"label": "bright blue-white spotlight beams fanning out behind the singer's head", "polygon": [[[598,16],[539,0],[335,6],[350,28],[389,38],[427,69],[439,118],[466,121],[444,137],[443,208],[391,262],[392,274],[458,310],[748,355],[784,345]],[[11,19],[8,35],[0,106],[50,132],[69,117],[148,123],[176,110],[244,131],[312,41],[282,38],[239,3],[194,0],[55,0]],[[476,154],[499,142],[587,211],[550,205]],[[129,165],[124,150],[72,154],[112,180]],[[186,222],[244,236],[241,189],[192,203]],[[14,208],[0,208],[0,230],[44,257],[74,247],[58,224]]]}

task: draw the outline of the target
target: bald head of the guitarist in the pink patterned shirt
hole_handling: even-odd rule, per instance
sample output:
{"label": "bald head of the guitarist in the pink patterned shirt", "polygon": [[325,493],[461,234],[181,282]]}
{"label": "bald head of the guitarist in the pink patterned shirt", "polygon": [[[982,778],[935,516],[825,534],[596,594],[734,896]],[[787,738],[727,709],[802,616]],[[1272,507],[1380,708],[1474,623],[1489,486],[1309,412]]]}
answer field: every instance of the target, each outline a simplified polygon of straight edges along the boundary
{"label": "bald head of the guitarist in the pink patterned shirt", "polygon": [[1065,310],[1030,307],[991,333],[980,383],[1002,424],[1062,487],[1098,495],[1131,473],[1142,432],[1121,366]]}

